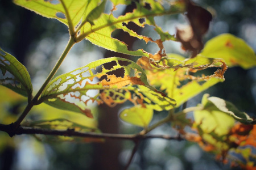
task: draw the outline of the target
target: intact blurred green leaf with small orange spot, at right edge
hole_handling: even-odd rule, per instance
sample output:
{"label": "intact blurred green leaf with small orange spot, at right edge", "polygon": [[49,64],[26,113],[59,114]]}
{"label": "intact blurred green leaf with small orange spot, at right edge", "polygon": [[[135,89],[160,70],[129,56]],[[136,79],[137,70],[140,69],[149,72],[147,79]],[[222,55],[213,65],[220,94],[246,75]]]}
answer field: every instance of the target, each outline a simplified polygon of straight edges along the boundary
{"label": "intact blurred green leaf with small orange spot, at right edge", "polygon": [[256,66],[254,50],[245,41],[229,33],[209,40],[199,55],[224,59],[229,67],[241,66],[243,69],[250,69]]}

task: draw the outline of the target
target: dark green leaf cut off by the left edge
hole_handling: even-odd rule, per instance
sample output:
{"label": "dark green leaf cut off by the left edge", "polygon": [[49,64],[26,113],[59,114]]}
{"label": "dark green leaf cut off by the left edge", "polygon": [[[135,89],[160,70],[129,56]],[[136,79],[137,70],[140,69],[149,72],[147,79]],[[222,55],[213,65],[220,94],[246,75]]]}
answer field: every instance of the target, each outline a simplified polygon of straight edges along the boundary
{"label": "dark green leaf cut off by the left edge", "polygon": [[31,96],[32,84],[25,66],[0,48],[0,84],[23,96]]}

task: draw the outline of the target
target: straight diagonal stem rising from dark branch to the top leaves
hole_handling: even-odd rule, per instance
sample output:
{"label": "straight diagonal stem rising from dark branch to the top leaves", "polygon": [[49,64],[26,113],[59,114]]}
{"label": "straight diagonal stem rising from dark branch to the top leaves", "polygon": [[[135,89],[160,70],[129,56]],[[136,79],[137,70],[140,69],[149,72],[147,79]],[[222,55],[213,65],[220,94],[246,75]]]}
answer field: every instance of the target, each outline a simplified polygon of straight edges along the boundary
{"label": "straight diagonal stem rising from dark branch to the top leaves", "polygon": [[18,120],[16,120],[14,122],[14,127],[18,128],[18,126],[20,125],[20,123],[23,121],[23,119],[27,116],[27,113],[31,110],[31,108],[38,104],[38,98],[39,96],[42,94],[44,88],[46,88],[47,84],[51,81],[51,79],[53,78],[53,76],[56,74],[57,70],[59,69],[61,63],[63,62],[64,58],[67,56],[69,50],[71,50],[72,46],[75,44],[76,42],[74,41],[73,37],[70,37],[68,44],[65,48],[65,50],[63,51],[63,53],[61,54],[59,60],[57,61],[57,63],[55,64],[55,66],[53,67],[51,73],[49,73],[46,81],[43,83],[42,87],[39,89],[39,91],[37,92],[37,94],[35,95],[35,97],[32,100],[28,100],[28,104],[27,107],[24,109],[24,111],[22,112],[22,114],[19,116]]}

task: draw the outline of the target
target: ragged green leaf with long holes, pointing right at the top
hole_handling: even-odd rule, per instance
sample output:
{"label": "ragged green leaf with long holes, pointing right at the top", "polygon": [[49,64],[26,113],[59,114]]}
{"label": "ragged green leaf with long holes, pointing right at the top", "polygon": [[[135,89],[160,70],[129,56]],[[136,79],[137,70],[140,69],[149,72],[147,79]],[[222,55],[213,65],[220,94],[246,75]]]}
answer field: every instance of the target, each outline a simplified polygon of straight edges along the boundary
{"label": "ragged green leaf with long holes, pointing right at the top", "polygon": [[[162,41],[174,40],[175,38],[168,32],[163,32],[162,29],[157,27],[154,22],[154,16],[183,12],[184,6],[175,6],[174,4],[171,8],[166,10],[161,3],[155,1],[147,1],[147,3],[142,4],[137,2],[135,3],[137,8],[133,10],[133,12],[128,12],[125,15],[119,16],[118,18],[115,18],[113,14],[102,14],[97,20],[94,21],[93,25],[90,23],[82,23],[79,28],[77,28],[77,32],[79,31],[77,41],[85,38],[93,44],[113,50],[114,52],[154,58],[152,54],[145,52],[143,49],[136,51],[128,50],[125,42],[119,41],[112,37],[112,32],[115,31],[115,29],[122,29],[123,31],[129,33],[130,36],[137,37],[145,42],[155,42],[160,48],[160,53],[163,49]],[[150,9],[147,9],[146,5],[150,6]],[[127,27],[129,22],[133,22],[139,27],[144,27],[145,24],[153,25],[156,28],[156,32],[159,33],[161,39],[154,41],[150,37],[138,35],[136,32]]]}

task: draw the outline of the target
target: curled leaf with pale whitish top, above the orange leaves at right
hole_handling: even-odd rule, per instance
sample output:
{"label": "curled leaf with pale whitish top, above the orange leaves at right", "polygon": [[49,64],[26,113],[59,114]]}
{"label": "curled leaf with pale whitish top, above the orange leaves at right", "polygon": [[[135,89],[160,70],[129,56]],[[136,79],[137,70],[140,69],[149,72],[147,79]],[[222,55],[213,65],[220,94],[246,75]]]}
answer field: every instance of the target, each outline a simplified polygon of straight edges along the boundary
{"label": "curled leaf with pale whitish top, above the orange leaves at right", "polygon": [[239,111],[234,104],[226,101],[224,99],[218,97],[208,97],[204,98],[204,107],[205,109],[214,108],[216,111],[223,112],[232,116],[237,121],[241,122],[242,124],[256,124],[256,122],[250,118],[248,114],[245,112]]}

